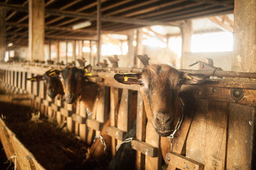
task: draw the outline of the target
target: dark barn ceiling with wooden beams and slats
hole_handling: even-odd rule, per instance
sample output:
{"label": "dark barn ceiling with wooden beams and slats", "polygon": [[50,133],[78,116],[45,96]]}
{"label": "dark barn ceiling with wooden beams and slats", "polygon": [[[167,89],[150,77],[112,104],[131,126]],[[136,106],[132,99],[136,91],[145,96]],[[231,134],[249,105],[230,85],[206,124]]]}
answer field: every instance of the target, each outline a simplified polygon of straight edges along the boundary
{"label": "dark barn ceiling with wooden beams and slats", "polygon": [[[6,43],[28,45],[28,0],[0,0]],[[234,0],[101,0],[102,33],[136,27],[179,26],[180,20],[232,13]],[[72,29],[81,22],[91,26]],[[45,39],[85,40],[97,33],[97,0],[45,0]]]}

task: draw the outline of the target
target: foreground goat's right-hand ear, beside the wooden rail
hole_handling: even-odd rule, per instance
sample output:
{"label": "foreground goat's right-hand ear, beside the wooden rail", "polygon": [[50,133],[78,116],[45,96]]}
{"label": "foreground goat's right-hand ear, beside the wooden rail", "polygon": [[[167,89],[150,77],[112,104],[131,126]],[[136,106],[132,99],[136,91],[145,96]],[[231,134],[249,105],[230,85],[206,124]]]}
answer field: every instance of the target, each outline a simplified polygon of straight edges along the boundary
{"label": "foreground goat's right-hand ear, beside the wooden rail", "polygon": [[181,84],[200,84],[205,81],[205,75],[180,72],[182,75]]}

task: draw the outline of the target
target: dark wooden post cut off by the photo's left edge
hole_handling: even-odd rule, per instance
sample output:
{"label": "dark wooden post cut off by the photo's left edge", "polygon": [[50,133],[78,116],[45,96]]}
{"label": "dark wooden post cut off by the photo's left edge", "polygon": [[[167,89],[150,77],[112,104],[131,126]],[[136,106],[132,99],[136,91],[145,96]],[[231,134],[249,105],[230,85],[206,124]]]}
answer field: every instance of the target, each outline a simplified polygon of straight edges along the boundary
{"label": "dark wooden post cut off by the photo's left edge", "polygon": [[0,8],[0,61],[5,56],[5,9]]}

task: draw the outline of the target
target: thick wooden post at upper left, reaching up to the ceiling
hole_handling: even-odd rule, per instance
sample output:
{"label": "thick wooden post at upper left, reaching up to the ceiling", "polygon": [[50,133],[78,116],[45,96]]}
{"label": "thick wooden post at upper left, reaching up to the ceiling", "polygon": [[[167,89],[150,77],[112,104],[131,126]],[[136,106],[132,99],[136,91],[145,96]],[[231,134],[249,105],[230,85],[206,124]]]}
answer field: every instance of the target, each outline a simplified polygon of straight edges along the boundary
{"label": "thick wooden post at upper left, reaching up to the ceiling", "polygon": [[29,58],[44,60],[44,0],[29,1]]}

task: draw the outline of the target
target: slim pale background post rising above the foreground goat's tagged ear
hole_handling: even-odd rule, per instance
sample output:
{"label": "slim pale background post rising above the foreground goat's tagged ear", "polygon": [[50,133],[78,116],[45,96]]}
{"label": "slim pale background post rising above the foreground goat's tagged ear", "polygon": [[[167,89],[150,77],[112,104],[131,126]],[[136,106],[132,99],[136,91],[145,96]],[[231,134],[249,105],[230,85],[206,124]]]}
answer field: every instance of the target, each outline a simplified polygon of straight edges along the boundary
{"label": "slim pale background post rising above the foreground goat's tagged ear", "polygon": [[[143,45],[142,45],[142,40],[143,40],[143,31],[142,28],[137,29],[137,45],[136,45],[136,55],[143,55]],[[134,58],[134,65],[136,65],[136,67],[140,68],[143,66],[143,64],[140,62],[140,59],[138,58]]]}

